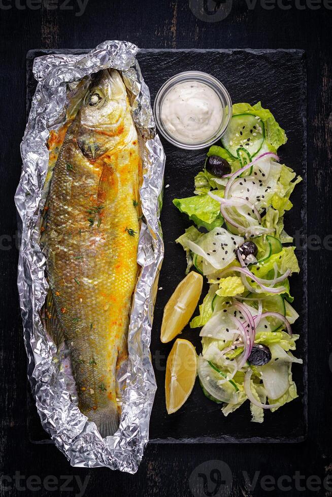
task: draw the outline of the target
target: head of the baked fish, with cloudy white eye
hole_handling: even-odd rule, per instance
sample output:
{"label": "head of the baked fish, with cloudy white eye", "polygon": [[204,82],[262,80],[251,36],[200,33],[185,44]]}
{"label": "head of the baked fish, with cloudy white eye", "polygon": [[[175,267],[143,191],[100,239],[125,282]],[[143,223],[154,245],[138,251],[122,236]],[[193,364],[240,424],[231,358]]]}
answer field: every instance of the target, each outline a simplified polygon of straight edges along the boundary
{"label": "head of the baked fish, with cloudy white eye", "polygon": [[90,160],[112,149],[125,134],[130,106],[122,78],[115,69],[93,76],[78,114],[78,145]]}

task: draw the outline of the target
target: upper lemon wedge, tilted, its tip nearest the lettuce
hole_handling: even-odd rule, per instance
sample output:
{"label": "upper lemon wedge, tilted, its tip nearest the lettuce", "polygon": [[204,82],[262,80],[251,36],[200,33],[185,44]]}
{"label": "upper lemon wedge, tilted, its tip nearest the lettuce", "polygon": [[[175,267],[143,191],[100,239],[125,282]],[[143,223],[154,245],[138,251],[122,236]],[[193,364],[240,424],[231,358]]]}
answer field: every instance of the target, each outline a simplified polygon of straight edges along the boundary
{"label": "upper lemon wedge, tilted, its tip nearest the lettuce", "polygon": [[203,288],[203,276],[191,271],[176,287],[165,305],[161,323],[160,340],[167,343],[173,340],[189,323]]}

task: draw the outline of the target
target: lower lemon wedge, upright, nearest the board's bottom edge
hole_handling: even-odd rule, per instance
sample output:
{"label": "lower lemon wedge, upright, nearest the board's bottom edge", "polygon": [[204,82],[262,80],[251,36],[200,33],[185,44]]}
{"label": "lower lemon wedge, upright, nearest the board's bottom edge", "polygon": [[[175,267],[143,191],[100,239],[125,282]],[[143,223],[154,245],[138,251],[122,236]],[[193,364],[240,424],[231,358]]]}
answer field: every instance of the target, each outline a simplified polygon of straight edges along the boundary
{"label": "lower lemon wedge, upright, nearest the board's bottom edge", "polygon": [[176,412],[188,399],[197,374],[197,354],[192,343],[178,338],[166,364],[165,397],[169,414]]}

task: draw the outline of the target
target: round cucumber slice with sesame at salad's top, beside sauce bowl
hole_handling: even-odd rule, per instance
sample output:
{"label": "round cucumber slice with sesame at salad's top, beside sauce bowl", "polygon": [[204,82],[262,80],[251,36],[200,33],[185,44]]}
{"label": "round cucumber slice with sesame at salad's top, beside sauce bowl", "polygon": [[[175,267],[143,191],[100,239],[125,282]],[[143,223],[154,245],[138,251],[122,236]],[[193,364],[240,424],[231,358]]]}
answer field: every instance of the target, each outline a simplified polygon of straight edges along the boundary
{"label": "round cucumber slice with sesame at salad's top, beside sauce bowl", "polygon": [[[261,149],[265,138],[264,124],[252,114],[238,114],[230,120],[221,138],[223,147],[233,157],[238,157],[238,148],[248,150],[251,157]],[[248,144],[248,145],[245,145]]]}

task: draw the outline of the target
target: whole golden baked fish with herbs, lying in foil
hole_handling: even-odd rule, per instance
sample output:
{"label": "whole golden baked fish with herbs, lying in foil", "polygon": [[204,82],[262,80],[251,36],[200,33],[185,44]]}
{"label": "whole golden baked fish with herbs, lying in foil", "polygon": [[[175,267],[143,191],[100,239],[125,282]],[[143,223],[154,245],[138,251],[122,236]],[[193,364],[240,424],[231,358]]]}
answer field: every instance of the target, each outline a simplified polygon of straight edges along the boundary
{"label": "whole golden baked fish with herbs, lying in foil", "polygon": [[116,70],[98,73],[53,169],[42,238],[50,333],[69,347],[78,407],[101,434],[119,424],[139,239],[137,132]]}

